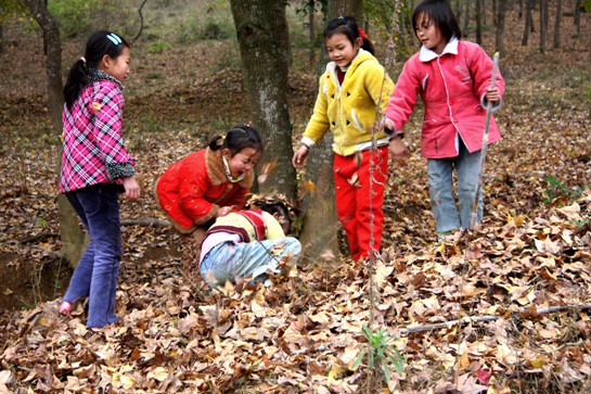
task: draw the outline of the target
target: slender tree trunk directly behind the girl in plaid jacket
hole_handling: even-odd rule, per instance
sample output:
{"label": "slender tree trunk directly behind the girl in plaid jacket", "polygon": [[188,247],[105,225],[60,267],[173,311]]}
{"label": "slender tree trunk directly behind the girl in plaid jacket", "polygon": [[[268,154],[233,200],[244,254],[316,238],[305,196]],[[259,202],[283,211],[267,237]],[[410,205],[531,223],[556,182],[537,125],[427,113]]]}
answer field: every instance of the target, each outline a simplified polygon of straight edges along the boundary
{"label": "slender tree trunk directly behind the girl in plaid jacket", "polygon": [[[55,20],[41,0],[23,0],[30,10],[39,26],[43,29],[44,48],[47,49],[47,78],[49,110],[56,136],[62,135],[62,111],[64,94],[62,85],[62,42]],[[61,155],[60,155],[61,157]],[[57,168],[60,168],[60,164]],[[59,169],[57,169],[59,171]],[[59,174],[59,173],[57,173]],[[64,194],[57,199],[60,209],[60,234],[62,238],[62,256],[73,268],[76,268],[85,251],[85,234],[80,230],[76,212]]]}

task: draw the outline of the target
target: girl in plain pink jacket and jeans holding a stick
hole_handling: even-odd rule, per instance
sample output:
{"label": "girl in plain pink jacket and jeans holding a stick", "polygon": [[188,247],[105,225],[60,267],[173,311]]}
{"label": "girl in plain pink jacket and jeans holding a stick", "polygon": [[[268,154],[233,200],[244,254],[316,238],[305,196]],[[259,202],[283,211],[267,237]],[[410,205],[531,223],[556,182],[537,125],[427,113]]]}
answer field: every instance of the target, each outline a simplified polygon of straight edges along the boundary
{"label": "girl in plain pink jacket and jeans holding a stick", "polygon": [[[451,230],[468,227],[486,107],[488,102],[492,103],[492,111],[501,106],[504,81],[497,73],[496,86],[490,88],[492,61],[478,45],[460,40],[462,31],[448,1],[421,2],[414,10],[412,25],[423,47],[404,64],[386,107],[385,127],[391,157],[402,163],[409,155],[402,142],[402,127],[421,96],[425,104],[421,151],[427,158],[431,204],[441,238]],[[491,118],[488,143],[500,139]],[[458,176],[460,214],[452,194],[453,169]],[[481,218],[480,194],[477,221]]]}

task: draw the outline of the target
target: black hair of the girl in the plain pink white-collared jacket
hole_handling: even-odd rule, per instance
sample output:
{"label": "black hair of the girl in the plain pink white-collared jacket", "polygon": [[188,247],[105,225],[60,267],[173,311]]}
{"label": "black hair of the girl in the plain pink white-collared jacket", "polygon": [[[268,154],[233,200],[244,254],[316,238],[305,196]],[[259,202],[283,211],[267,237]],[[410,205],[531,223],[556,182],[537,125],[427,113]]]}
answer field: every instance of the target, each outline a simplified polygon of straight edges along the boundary
{"label": "black hair of the girl in the plain pink white-collared jacket", "polygon": [[448,0],[425,0],[416,5],[412,14],[412,28],[414,29],[414,35],[416,35],[416,28],[420,27],[421,21],[419,21],[419,17],[422,15],[426,16],[439,28],[439,30],[441,30],[447,42],[449,42],[453,36],[458,39],[462,38],[460,24],[458,23],[458,18],[455,17],[453,10],[451,10]]}

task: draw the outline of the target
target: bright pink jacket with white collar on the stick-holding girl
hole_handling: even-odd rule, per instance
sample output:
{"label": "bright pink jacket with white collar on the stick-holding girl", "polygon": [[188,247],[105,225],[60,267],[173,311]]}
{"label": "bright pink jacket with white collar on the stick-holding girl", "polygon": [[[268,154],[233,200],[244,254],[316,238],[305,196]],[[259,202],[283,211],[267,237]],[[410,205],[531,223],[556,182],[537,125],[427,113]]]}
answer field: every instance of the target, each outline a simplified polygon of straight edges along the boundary
{"label": "bright pink jacket with white collar on the stick-holding girl", "polygon": [[[426,158],[454,157],[459,138],[470,152],[483,148],[486,89],[490,87],[492,60],[476,43],[452,38],[441,55],[425,48],[414,54],[398,78],[385,115],[396,130],[402,130],[420,94],[425,104],[421,151]],[[497,72],[496,87],[504,93],[504,80]],[[492,111],[502,100],[493,103]],[[490,119],[488,143],[501,139],[494,118]]]}

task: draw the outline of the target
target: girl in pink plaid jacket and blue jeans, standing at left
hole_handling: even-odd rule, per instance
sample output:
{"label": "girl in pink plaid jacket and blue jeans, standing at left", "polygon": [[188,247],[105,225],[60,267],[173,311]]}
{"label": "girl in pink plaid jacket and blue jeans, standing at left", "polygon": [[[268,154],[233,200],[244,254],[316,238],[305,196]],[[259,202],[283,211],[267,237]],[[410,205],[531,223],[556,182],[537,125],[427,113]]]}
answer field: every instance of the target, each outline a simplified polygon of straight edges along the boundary
{"label": "girl in pink plaid jacket and blue jeans, standing at left", "polygon": [[137,201],[134,161],[121,137],[123,81],[130,50],[118,35],[97,31],[85,55],[72,66],[64,87],[64,150],[60,193],[64,193],[90,237],[64,295],[60,312],[88,296],[87,326],[117,321],[115,291],[121,259],[118,194]]}

